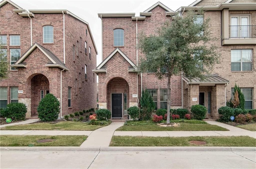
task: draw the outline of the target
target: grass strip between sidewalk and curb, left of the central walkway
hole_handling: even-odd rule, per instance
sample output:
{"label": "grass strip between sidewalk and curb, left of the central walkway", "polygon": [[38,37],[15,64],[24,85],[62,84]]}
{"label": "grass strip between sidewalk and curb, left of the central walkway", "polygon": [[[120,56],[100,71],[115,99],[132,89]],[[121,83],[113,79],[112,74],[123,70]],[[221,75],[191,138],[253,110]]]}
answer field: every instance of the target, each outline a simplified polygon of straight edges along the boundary
{"label": "grass strip between sidewalk and curb, left of the central walkway", "polygon": [[[80,146],[88,136],[20,136],[1,135],[0,146]],[[55,139],[52,142],[38,143],[37,140]]]}

